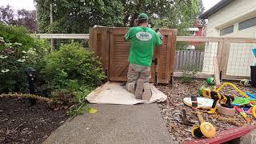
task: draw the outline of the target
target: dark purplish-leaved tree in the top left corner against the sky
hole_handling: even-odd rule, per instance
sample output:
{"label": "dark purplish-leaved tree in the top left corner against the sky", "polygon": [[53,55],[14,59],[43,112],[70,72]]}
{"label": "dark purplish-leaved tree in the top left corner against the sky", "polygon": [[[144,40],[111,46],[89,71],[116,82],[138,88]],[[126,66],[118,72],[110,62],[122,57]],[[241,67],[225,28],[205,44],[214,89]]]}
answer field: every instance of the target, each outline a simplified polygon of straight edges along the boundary
{"label": "dark purplish-leaved tree in the top left corner against the sky", "polygon": [[38,31],[38,22],[35,10],[14,11],[7,5],[0,7],[0,22],[11,26],[25,26],[30,32]]}

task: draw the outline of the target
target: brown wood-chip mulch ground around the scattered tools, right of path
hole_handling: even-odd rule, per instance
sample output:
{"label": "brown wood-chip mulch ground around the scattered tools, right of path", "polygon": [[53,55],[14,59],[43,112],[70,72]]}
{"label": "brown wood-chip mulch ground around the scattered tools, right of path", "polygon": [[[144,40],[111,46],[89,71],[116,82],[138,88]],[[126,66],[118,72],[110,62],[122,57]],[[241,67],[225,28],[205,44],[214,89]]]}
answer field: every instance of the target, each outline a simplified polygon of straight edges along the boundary
{"label": "brown wood-chip mulch ground around the scattered tools, right of path", "polygon": [[[255,94],[255,88],[239,86],[238,83],[234,84],[244,92],[251,92],[252,94]],[[166,120],[166,126],[176,143],[182,143],[184,141],[194,139],[191,135],[192,126],[184,125],[180,115],[182,115],[183,109],[186,110],[187,118],[190,122],[194,122],[195,125],[199,125],[198,117],[193,113],[194,110],[183,103],[183,98],[190,97],[191,95],[198,95],[198,90],[201,86],[206,86],[205,80],[194,80],[191,83],[181,83],[176,80],[174,81],[173,86],[158,86],[158,90],[162,90],[162,92],[168,96],[166,102],[159,103],[159,106],[161,108],[162,118]],[[238,95],[238,93],[236,93],[231,87],[226,87],[222,91],[224,94]],[[252,115],[248,116],[253,120],[250,124],[254,124],[256,119]],[[203,112],[202,117],[206,122],[211,122],[215,126],[217,134],[219,131],[235,126],[230,122],[216,119],[214,114],[207,114],[206,112]],[[226,116],[222,117],[229,118]],[[236,118],[237,122],[248,125],[240,114],[236,114],[234,118]]]}

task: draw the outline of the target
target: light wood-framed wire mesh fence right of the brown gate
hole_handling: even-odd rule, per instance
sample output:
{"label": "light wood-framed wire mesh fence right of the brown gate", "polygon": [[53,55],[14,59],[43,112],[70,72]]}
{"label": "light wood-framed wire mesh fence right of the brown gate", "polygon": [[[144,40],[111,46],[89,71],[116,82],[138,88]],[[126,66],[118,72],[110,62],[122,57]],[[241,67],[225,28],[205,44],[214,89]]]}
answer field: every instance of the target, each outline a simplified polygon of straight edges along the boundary
{"label": "light wood-framed wire mesh fence right of the brown gate", "polygon": [[[250,65],[256,61],[251,52],[256,47],[256,38],[178,36],[177,42],[205,42],[203,70],[198,72],[198,77],[214,74],[213,58],[216,57],[221,79],[250,78]],[[181,75],[182,72],[174,73],[174,76]]]}

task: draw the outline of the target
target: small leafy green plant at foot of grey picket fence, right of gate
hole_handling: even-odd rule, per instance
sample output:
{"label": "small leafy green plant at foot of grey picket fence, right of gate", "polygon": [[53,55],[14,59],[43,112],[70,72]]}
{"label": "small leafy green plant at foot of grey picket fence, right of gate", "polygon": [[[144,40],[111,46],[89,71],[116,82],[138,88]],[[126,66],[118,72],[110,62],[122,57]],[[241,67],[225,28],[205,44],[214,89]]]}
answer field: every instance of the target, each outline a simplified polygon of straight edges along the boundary
{"label": "small leafy green plant at foot of grey picket fence, right of gate", "polygon": [[186,65],[186,68],[184,71],[182,71],[183,74],[182,74],[182,77],[179,78],[179,80],[182,82],[182,83],[190,83],[190,82],[193,82],[194,78],[195,78],[195,75],[198,73],[198,66],[189,66],[189,65]]}

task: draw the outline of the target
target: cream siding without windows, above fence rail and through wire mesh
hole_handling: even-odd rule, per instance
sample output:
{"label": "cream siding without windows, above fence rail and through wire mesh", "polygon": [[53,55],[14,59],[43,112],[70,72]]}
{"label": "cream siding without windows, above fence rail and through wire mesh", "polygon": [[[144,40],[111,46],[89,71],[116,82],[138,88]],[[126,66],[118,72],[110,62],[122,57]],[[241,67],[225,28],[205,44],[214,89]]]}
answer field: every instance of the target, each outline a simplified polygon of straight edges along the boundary
{"label": "cream siding without windows, above fence rail and through wire mesh", "polygon": [[[256,0],[235,0],[209,17],[206,36],[219,37],[221,29],[234,25],[234,33],[226,34],[222,37],[256,38],[256,26],[238,30],[239,22],[254,17],[256,17]],[[231,43],[226,73],[235,76],[250,76],[250,66],[256,62],[256,58],[251,52],[253,48],[256,48],[256,44]],[[206,46],[205,50],[205,57],[208,54],[210,62],[208,59],[204,62],[206,65],[204,65],[203,71],[208,74],[214,73],[212,66],[212,55],[214,54],[209,54],[213,49],[216,50],[217,47],[207,49]]]}

